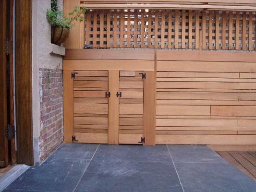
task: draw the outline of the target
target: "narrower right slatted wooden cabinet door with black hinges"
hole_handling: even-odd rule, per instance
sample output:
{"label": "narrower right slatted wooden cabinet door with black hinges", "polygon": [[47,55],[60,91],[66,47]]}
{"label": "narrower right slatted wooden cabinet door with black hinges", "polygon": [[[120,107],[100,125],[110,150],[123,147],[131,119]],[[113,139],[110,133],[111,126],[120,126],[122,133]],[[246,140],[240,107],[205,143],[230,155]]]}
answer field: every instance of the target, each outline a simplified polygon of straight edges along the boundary
{"label": "narrower right slatted wooden cabinet door with black hinges", "polygon": [[142,144],[144,72],[120,71],[119,144]]}

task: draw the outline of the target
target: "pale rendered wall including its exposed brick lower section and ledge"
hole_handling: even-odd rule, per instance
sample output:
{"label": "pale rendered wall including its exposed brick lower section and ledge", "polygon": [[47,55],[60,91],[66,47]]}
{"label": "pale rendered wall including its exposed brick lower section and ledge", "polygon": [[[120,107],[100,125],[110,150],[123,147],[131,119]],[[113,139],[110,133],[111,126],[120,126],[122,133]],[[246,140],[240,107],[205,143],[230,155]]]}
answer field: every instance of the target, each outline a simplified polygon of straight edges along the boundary
{"label": "pale rendered wall including its exposed brick lower section and ledge", "polygon": [[[50,1],[33,0],[32,97],[35,164],[40,163],[63,142],[61,54],[63,55],[65,49],[50,43],[51,26],[46,19],[47,9],[51,8]],[[63,1],[58,0],[58,4],[62,9]],[[56,115],[58,118],[54,117]]]}

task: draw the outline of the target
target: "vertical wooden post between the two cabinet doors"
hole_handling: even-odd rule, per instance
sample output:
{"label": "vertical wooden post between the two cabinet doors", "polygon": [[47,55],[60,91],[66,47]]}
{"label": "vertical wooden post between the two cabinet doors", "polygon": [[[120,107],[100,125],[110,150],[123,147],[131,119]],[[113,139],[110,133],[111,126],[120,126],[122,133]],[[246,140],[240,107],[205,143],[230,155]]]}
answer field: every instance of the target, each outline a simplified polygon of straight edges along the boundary
{"label": "vertical wooden post between the two cabinet doors", "polygon": [[119,71],[109,71],[109,132],[108,144],[119,144]]}

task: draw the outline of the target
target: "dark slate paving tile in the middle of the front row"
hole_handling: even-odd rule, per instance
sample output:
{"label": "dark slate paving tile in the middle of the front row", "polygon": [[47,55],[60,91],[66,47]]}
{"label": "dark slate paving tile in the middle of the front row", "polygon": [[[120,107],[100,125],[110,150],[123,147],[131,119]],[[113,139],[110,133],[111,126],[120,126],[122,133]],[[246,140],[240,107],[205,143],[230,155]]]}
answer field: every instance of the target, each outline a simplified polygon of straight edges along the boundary
{"label": "dark slate paving tile in the middle of the front row", "polygon": [[171,162],[91,161],[77,192],[183,192]]}

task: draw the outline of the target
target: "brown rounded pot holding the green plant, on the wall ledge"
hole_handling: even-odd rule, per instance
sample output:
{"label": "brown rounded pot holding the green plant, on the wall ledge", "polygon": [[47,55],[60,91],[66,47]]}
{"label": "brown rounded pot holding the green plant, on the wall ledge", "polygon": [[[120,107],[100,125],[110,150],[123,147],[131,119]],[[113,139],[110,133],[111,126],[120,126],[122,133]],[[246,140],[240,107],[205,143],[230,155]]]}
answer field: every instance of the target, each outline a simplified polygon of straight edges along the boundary
{"label": "brown rounded pot holding the green plant, on the wall ledge", "polygon": [[68,27],[59,27],[52,26],[51,27],[51,43],[55,45],[61,45],[64,43],[70,34],[70,28]]}

